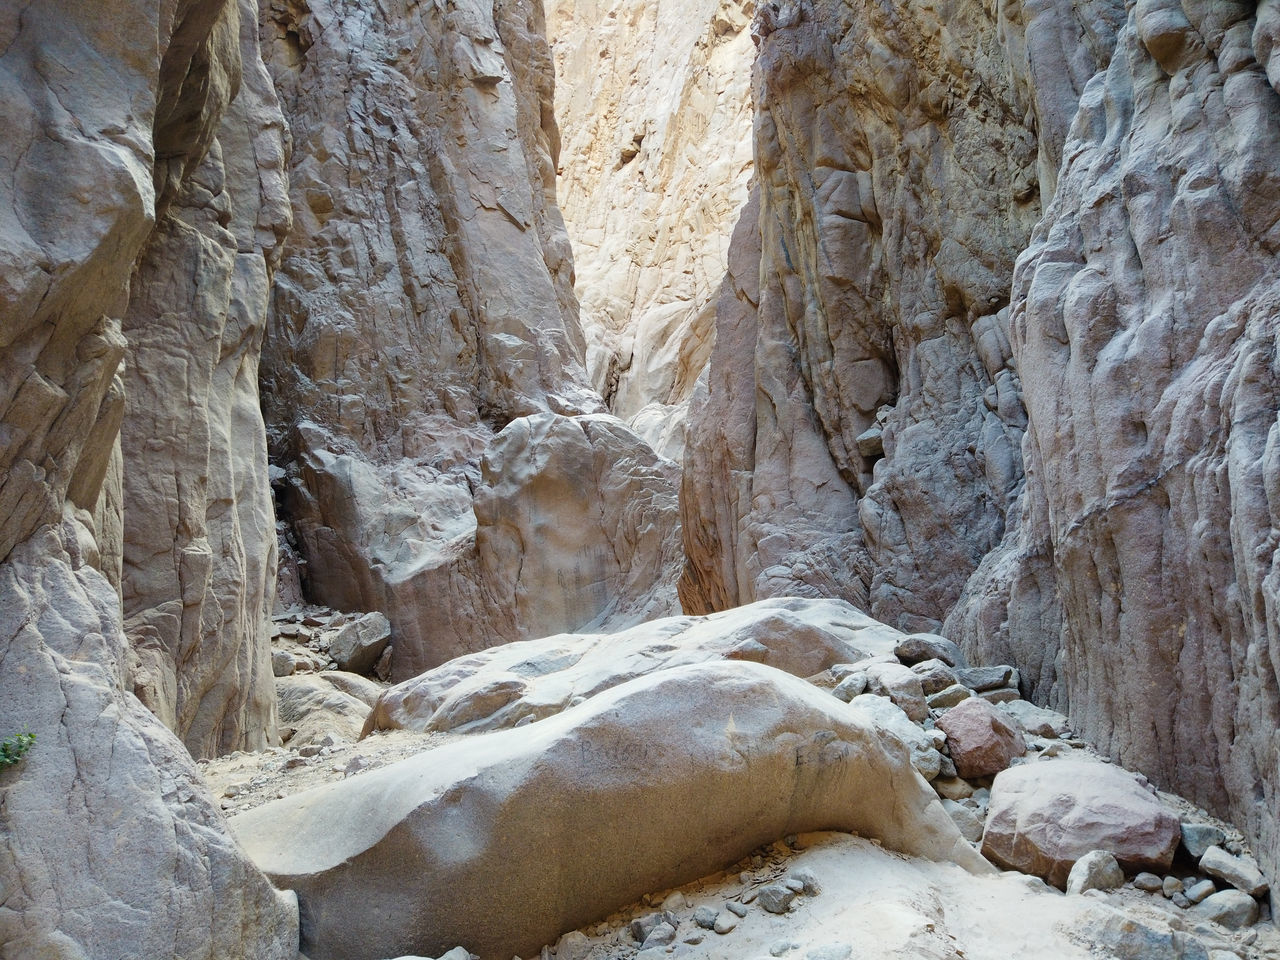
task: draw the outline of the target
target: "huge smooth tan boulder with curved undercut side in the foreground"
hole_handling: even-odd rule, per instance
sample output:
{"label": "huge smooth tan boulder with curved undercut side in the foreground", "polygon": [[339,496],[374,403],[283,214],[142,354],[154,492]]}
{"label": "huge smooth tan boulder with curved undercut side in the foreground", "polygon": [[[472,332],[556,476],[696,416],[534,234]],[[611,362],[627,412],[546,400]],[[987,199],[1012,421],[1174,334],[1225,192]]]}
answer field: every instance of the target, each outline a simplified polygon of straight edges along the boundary
{"label": "huge smooth tan boulder with curved undercut side in the foreground", "polygon": [[529,956],[646,891],[815,828],[987,869],[893,737],[753,663],[640,677],[357,780],[232,822],[298,892],[312,960],[452,943]]}

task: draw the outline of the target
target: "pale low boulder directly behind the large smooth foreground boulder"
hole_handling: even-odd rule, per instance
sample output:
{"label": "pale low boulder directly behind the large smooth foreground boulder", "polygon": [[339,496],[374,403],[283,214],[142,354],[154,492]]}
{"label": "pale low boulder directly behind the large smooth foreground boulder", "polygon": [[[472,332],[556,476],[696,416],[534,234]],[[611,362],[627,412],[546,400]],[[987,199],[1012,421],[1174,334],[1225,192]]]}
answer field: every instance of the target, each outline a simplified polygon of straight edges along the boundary
{"label": "pale low boulder directly behind the large smooth foreground boulder", "polygon": [[561,634],[460,657],[397,684],[367,731],[512,727],[644,673],[707,660],[754,660],[809,677],[888,653],[900,636],[844,600],[799,598],[668,617],[620,634]]}

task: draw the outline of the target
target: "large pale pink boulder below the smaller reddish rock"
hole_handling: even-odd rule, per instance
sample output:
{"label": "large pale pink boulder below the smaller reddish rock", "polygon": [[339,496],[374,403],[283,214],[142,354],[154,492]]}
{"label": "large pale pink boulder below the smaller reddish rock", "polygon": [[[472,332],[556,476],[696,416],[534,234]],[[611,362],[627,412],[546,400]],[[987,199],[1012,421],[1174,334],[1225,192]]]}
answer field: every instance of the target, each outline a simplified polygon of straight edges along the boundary
{"label": "large pale pink boulder below the smaller reddish rock", "polygon": [[1132,773],[1092,760],[1043,760],[996,777],[982,854],[1065,887],[1091,850],[1110,851],[1130,873],[1167,872],[1179,836],[1178,818]]}

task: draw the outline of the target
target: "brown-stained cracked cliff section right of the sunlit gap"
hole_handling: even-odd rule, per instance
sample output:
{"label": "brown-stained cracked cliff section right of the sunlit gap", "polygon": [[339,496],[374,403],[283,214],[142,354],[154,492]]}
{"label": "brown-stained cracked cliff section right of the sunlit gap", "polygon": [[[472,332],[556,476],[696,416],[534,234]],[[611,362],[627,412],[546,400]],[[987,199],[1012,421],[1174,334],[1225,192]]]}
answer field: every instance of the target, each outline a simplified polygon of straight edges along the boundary
{"label": "brown-stained cracked cliff section right of the sunlit gap", "polygon": [[803,0],[753,29],[759,209],[694,403],[681,599],[833,594],[936,628],[1021,480],[1033,106],[986,4]]}

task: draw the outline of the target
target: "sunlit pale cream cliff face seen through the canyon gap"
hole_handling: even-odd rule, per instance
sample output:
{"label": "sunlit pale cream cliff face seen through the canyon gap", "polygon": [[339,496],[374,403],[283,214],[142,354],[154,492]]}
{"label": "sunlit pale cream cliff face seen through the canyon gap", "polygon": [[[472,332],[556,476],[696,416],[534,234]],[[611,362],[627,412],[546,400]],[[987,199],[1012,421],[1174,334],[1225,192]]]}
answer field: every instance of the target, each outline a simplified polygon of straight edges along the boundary
{"label": "sunlit pale cream cliff face seen through the canyon gap", "polygon": [[676,461],[751,172],[751,8],[547,9],[588,370],[609,410]]}

